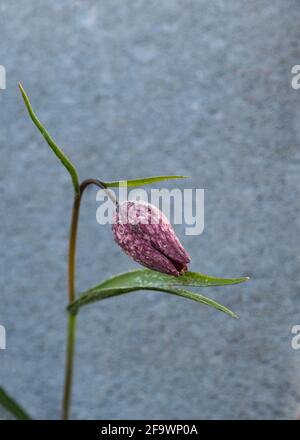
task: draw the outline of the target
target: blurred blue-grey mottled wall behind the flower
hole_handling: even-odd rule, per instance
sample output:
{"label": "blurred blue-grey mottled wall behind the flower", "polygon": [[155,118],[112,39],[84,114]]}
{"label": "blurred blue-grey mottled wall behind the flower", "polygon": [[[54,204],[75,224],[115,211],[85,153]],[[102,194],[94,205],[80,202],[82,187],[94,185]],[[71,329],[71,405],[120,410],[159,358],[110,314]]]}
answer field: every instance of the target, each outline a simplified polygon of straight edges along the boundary
{"label": "blurred blue-grey mottled wall behind the flower", "polygon": [[[300,3],[296,0],[1,0],[1,384],[36,418],[60,416],[70,179],[187,174],[205,232],[176,231],[191,269],[249,274],[204,291],[240,320],[140,292],[82,311],[73,418],[295,418],[300,412]],[[173,185],[169,185],[172,187]],[[78,290],[135,268],[80,220]]]}

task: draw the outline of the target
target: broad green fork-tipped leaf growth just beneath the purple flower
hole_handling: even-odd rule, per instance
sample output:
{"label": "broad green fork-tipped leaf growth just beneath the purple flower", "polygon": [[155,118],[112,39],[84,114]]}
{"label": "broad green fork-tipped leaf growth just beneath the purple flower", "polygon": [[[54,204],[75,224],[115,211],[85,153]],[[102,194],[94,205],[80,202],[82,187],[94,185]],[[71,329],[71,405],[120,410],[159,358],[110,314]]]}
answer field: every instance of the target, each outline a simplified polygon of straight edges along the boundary
{"label": "broad green fork-tipped leaf growth just beneath the purple flower", "polygon": [[237,318],[235,313],[216,301],[206,298],[198,293],[181,289],[177,286],[220,286],[237,284],[247,280],[248,278],[213,278],[196,272],[187,272],[181,277],[172,277],[171,275],[162,274],[149,269],[138,269],[116,275],[99,284],[98,286],[89,289],[76,301],[74,301],[68,307],[68,309],[71,313],[77,313],[82,306],[95,301],[101,301],[109,297],[135,292],[138,290],[154,290],[182,296],[184,298],[206,304],[217,310],[227,313],[231,317]]}

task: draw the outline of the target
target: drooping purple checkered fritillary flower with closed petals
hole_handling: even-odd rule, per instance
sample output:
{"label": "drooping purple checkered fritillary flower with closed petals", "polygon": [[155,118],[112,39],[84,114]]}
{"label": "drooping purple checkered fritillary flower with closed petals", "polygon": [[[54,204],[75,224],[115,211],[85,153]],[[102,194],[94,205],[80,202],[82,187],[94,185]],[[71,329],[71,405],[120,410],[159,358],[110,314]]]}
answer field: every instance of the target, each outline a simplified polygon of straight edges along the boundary
{"label": "drooping purple checkered fritillary flower with closed petals", "polygon": [[188,270],[188,253],[155,206],[125,201],[113,215],[112,232],[123,251],[143,266],[174,276]]}

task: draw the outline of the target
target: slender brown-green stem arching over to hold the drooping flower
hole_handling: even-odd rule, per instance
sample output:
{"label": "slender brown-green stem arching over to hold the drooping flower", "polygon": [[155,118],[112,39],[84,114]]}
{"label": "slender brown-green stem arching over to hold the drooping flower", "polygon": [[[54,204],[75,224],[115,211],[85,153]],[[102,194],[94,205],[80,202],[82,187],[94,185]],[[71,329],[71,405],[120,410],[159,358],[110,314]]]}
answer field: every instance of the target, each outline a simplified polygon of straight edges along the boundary
{"label": "slender brown-green stem arching over to hold the drooping flower", "polygon": [[[118,204],[117,200],[112,196],[111,192],[106,188],[105,184],[98,179],[87,179],[81,182],[79,187],[79,193],[75,192],[71,226],[70,226],[70,238],[69,238],[69,255],[68,255],[68,302],[71,304],[75,300],[75,266],[76,266],[76,242],[77,242],[77,230],[78,219],[80,212],[81,197],[84,190],[89,185],[96,185],[106,192],[108,197],[113,201],[115,205]],[[71,390],[72,390],[72,378],[73,378],[73,360],[74,360],[74,348],[75,348],[75,336],[76,336],[76,315],[68,312],[68,339],[67,339],[67,352],[66,352],[66,366],[65,366],[65,383],[64,394],[62,403],[62,418],[68,420],[69,410],[71,403]]]}

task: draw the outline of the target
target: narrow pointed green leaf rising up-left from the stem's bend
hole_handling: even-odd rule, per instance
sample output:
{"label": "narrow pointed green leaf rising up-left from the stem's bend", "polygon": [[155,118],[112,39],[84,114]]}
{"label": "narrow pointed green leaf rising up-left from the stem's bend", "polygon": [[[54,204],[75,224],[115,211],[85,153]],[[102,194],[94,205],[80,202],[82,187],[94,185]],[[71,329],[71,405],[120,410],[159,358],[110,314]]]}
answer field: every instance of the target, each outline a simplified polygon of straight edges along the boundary
{"label": "narrow pointed green leaf rising up-left from the stem's bend", "polygon": [[50,146],[50,148],[52,149],[54,154],[59,158],[59,160],[62,162],[63,166],[70,173],[71,179],[72,179],[72,182],[73,182],[73,186],[74,186],[74,190],[75,190],[76,194],[79,194],[79,179],[78,179],[78,174],[77,174],[76,168],[74,167],[74,165],[72,164],[70,159],[63,153],[63,151],[54,142],[54,140],[51,138],[50,134],[45,129],[45,127],[42,125],[42,123],[38,120],[36,114],[33,111],[32,106],[30,104],[29,98],[26,95],[26,92],[23,89],[23,86],[22,86],[21,83],[19,83],[19,89],[20,89],[20,91],[22,93],[22,96],[23,96],[26,108],[28,110],[29,116],[31,117],[33,123],[39,129],[41,134],[46,139],[46,142],[48,143],[48,145]]}

